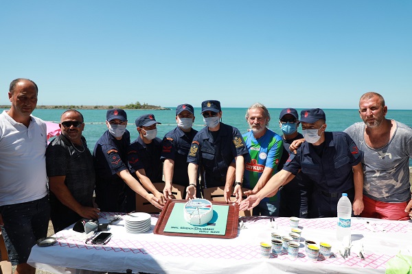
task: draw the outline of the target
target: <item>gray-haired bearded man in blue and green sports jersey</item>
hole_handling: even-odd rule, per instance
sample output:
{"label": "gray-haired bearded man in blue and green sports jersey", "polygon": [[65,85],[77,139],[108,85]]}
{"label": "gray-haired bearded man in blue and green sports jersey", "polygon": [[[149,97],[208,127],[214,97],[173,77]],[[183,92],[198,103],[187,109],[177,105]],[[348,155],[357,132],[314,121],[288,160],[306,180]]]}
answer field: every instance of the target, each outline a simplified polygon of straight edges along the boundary
{"label": "gray-haired bearded man in blue and green sports jersey", "polygon": [[[249,154],[245,155],[243,186],[252,188],[246,194],[258,192],[277,173],[277,165],[282,158],[283,141],[268,129],[271,114],[262,103],[253,103],[245,115],[250,131],[243,134]],[[253,208],[253,215],[278,216],[279,194],[265,197]]]}

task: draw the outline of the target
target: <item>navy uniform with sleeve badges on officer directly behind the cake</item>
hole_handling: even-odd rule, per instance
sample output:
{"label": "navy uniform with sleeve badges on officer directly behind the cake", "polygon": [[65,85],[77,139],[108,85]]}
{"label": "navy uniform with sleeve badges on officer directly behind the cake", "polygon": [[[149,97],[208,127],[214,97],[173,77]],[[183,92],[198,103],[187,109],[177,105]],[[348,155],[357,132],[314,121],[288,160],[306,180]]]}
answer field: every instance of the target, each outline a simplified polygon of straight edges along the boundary
{"label": "navy uniform with sleeve badges on officer directly behind the cake", "polygon": [[218,132],[204,127],[194,136],[187,162],[205,169],[205,188],[225,186],[229,165],[235,157],[247,153],[239,129],[220,123]]}

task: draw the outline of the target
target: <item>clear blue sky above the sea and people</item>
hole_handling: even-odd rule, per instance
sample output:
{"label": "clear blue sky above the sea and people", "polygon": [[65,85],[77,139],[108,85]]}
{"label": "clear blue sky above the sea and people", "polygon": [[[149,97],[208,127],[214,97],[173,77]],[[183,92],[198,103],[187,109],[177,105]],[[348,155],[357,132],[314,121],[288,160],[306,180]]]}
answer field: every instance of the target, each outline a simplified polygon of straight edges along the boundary
{"label": "clear blue sky above the sea and people", "polygon": [[412,1],[2,1],[0,104],[411,110]]}

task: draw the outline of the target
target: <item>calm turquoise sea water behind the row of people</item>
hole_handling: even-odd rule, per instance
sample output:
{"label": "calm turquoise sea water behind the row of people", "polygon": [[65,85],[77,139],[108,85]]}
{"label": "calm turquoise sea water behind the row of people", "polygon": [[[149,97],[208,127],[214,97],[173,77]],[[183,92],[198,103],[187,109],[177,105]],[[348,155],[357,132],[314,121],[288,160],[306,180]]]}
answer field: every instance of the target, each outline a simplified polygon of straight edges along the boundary
{"label": "calm turquoise sea water behind the row of people", "polygon": [[[246,114],[247,108],[223,108],[222,109],[222,122],[232,125],[233,127],[238,127],[240,132],[247,132],[249,128],[244,114]],[[280,108],[270,108],[269,112],[271,114],[272,121],[269,123],[269,128],[271,128],[277,134],[282,134],[279,128],[279,113],[282,109]],[[0,109],[1,112],[3,110]],[[53,121],[58,123],[60,121],[60,115],[64,110],[34,110],[33,115],[37,116],[44,121]],[[156,121],[162,123],[157,125],[159,138],[170,132],[170,130],[176,127],[176,108],[171,108],[171,110],[126,110],[128,115],[128,126],[127,129],[130,132],[131,140],[137,138],[137,130],[135,127],[135,119],[142,115],[152,113],[155,115]],[[297,109],[300,114],[301,109]],[[360,122],[358,110],[324,110],[326,114],[326,123],[328,125],[327,130],[330,132],[343,131],[346,127],[352,125],[355,122]],[[87,140],[87,145],[91,151],[95,142],[102,136],[103,132],[107,129],[104,121],[106,120],[106,110],[80,110],[84,116],[84,127],[83,136]],[[201,116],[201,108],[195,108],[196,119],[194,121],[194,128],[200,130],[204,127],[203,116]],[[406,125],[412,127],[412,110],[389,110],[387,114],[388,119],[395,119]]]}

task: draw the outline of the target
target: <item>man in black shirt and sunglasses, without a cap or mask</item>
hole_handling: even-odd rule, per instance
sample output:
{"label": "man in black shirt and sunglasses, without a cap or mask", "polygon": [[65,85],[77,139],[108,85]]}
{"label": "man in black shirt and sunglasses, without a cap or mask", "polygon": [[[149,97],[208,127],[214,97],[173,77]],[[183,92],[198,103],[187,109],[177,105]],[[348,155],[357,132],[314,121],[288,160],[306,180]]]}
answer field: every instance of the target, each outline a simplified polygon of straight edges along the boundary
{"label": "man in black shirt and sunglasses, without a cap or mask", "polygon": [[83,116],[67,110],[60,118],[62,134],[46,150],[49,177],[51,219],[54,232],[59,232],[79,219],[98,219],[93,208],[95,172],[93,158],[82,136]]}

